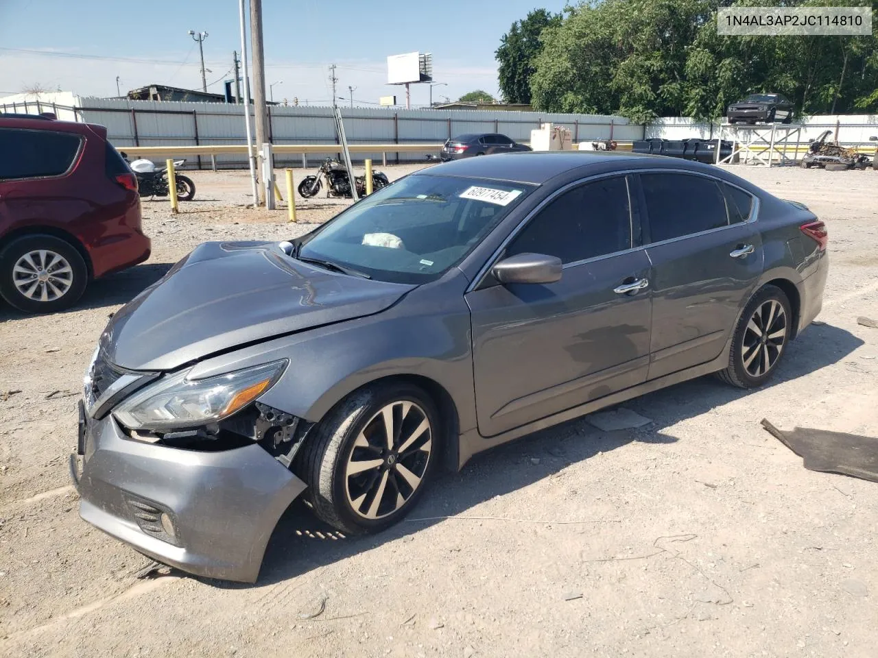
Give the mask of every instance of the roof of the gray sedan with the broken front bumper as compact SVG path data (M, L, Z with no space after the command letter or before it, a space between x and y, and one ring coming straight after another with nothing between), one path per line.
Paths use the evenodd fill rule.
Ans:
M574 171L582 175L591 175L657 166L687 171L709 171L712 175L716 175L718 171L699 162L664 155L619 151L531 151L445 162L421 169L413 175L449 175L540 185L558 175L572 174Z

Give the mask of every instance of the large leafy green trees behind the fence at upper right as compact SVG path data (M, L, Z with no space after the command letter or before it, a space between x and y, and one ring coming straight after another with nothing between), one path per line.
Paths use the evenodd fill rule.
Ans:
M843 1L878 8L878 0L831 0ZM531 103L544 111L620 113L637 122L718 118L754 92L781 93L804 114L878 107L878 36L721 36L718 4L731 3L594 0L568 9L541 32Z

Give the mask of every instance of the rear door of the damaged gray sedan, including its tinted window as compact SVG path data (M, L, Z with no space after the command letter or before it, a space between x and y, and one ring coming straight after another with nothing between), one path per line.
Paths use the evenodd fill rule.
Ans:
M649 378L716 358L763 268L756 199L715 178L638 176L652 263Z

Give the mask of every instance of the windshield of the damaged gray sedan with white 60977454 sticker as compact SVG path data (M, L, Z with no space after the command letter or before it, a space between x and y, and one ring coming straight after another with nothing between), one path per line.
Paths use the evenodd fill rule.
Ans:
M306 238L297 257L393 283L428 283L469 254L533 187L410 175Z

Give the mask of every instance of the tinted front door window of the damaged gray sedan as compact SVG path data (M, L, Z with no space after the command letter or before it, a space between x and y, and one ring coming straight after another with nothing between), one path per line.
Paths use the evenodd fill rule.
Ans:
M545 254L569 263L630 247L628 182L615 176L561 194L515 236L507 255Z

